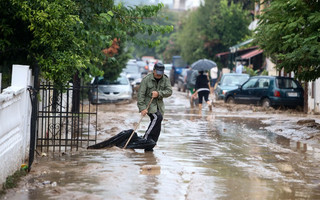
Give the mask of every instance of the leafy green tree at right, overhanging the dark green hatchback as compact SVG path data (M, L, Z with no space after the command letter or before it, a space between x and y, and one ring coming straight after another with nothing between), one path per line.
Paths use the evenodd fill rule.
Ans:
M320 77L320 4L313 0L271 1L260 16L255 41L278 70L305 81Z

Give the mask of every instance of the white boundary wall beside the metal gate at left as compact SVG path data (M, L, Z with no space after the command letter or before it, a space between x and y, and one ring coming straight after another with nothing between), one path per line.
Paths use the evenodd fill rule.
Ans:
M29 155L31 70L13 65L11 86L0 93L0 186Z

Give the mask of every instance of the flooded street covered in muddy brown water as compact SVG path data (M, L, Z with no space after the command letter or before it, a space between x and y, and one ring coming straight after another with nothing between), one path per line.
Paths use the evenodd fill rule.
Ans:
M39 157L3 198L320 199L319 144L270 132L261 123L267 116L190 109L186 93L175 91L165 102L153 152L113 147ZM101 107L100 139L133 128L140 117L135 102ZM144 118L138 135L148 123Z

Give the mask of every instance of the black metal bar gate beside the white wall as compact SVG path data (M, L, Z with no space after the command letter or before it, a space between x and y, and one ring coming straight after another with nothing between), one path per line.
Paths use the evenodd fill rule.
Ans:
M76 84L75 84L76 85ZM78 150L97 139L97 105L88 101L92 86L56 89L41 82L38 90L36 149L43 151Z

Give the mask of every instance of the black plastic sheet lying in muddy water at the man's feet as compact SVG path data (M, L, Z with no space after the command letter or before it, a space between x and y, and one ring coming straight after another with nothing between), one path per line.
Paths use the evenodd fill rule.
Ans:
M124 145L127 143L132 132L133 132L133 129L121 131L120 133L111 137L108 140L97 143L95 145L88 146L87 149L102 149L102 148L110 148L113 146L123 148ZM139 137L137 133L134 132L126 148L127 149L152 149L155 145L156 143L153 140L146 140L142 137Z

